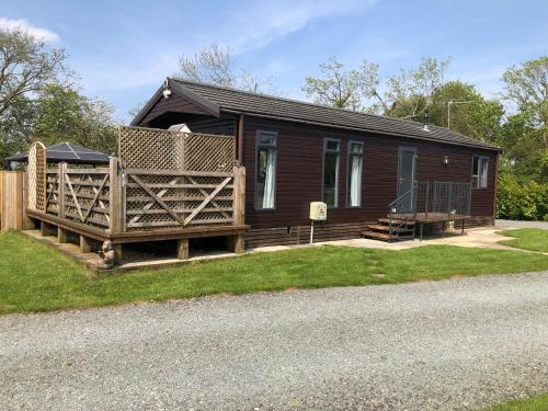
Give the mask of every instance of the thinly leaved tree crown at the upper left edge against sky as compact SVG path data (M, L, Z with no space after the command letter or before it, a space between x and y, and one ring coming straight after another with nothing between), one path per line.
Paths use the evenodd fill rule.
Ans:
M65 77L65 57L23 31L0 31L0 116L15 100Z

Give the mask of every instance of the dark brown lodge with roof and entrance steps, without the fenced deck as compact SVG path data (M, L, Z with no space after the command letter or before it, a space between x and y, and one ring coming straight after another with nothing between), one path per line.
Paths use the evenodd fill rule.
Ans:
M443 127L175 79L132 125L183 123L236 140L249 248L308 242L317 201L317 240L494 222L500 149Z

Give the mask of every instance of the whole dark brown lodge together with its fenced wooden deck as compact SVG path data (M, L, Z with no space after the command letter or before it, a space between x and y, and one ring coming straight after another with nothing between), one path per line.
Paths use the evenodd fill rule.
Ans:
M168 79L105 165L28 153L26 214L69 233L124 244L226 237L235 252L315 240L415 237L494 222L499 148L427 124Z

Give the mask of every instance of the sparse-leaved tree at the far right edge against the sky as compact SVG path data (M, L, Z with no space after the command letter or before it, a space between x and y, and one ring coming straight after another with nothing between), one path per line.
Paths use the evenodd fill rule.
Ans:
M505 99L532 114L548 150L548 56L513 66L502 76Z

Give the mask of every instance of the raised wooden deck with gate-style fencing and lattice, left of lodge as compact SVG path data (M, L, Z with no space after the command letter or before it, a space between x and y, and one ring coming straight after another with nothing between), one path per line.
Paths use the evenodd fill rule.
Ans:
M246 169L235 161L230 136L121 127L121 157L109 168L47 168L32 147L27 215L58 241L80 237L110 240L116 261L123 244L178 240L178 258L189 258L189 239L230 237L243 252Z

